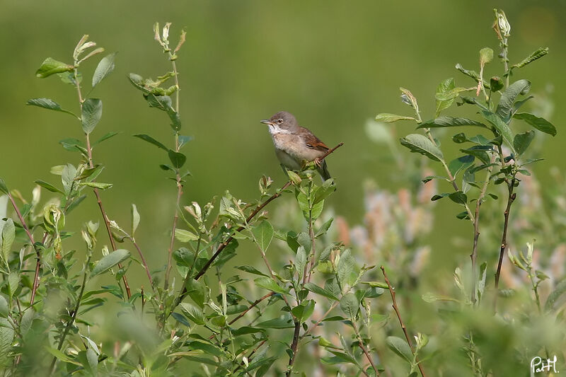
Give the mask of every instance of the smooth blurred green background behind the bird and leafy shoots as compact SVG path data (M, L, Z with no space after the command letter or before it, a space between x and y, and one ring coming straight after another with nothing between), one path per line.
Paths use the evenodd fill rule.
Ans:
M454 65L478 70L480 48L498 51L491 30L492 8L497 7L504 9L512 23L512 63L538 47L550 47L548 57L516 75L533 81L535 95L550 91L550 99L557 104L550 120L558 136L545 143L547 161L533 166L545 182L551 166L566 168L561 157L565 146L561 120L566 109L559 105L566 100L565 5L566 1L558 0L57 1L42 5L3 1L0 176L29 198L34 180L59 182L50 175L51 166L79 162L76 153L58 144L67 137L82 139L76 120L26 107L25 102L47 97L76 111L76 93L70 86L56 76L36 79L34 74L46 57L71 62L76 42L83 34L91 35L107 52L119 52L114 73L92 94L104 103L95 138L121 132L94 151L96 162L106 166L98 180L114 184L103 193L103 200L110 218L120 224L128 224L130 204L137 204L141 214L137 238L149 265L161 265L175 187L158 168L167 162L163 151L131 135L151 134L167 145L173 144L173 136L163 112L148 108L126 76L134 72L155 78L171 69L152 30L154 22L170 21L173 45L180 29L187 31L178 59L180 115L182 133L195 137L184 149L192 178L185 185L183 203L204 204L226 189L251 201L258 197L262 174L270 175L277 187L282 185L284 175L259 120L288 110L328 146L344 141L345 146L328 158L338 182L329 204L350 224L359 224L365 180L391 190L408 185L406 176L395 171L390 149L368 139L366 122L379 112L412 115L400 102L399 86L410 88L419 98L424 119L433 115L434 89L441 80L453 76L457 86L472 86ZM81 66L86 91L96 62L92 59ZM485 76L495 73L499 74L497 62L487 66ZM395 137L402 137L412 132L414 124L399 123L391 129ZM449 144L444 146L445 154L456 156L456 148ZM408 154L402 147L398 151ZM75 219L82 222L98 216L93 197L89 199ZM454 221L454 204L439 203L435 211L435 225L442 233L470 236L467 224ZM76 229L81 222L75 223ZM452 265L465 260L467 247L452 255L454 249L446 238L438 237L437 231L432 235L438 262Z

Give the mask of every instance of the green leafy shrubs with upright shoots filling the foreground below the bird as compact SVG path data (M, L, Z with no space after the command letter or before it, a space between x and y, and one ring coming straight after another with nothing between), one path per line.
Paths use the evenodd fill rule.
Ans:
M507 245L508 235L514 239L516 234L529 233L526 226L516 228L511 209L521 201L519 185L523 183L526 190L533 186L525 168L539 160L529 154L533 139L541 132L556 134L553 124L543 117L519 112L532 98L524 97L531 83L509 81L518 69L548 50L541 48L509 66L510 25L502 11L496 11L494 28L502 50L504 79L484 79L494 55L486 47L480 50L479 74L456 66L477 86L456 87L454 79L440 83L431 120L422 121L417 98L405 88L400 89L401 99L415 115L382 113L376 118L417 122L424 134L409 134L400 144L441 166L446 176L434 175L429 168L402 166L396 156L399 170L407 170L408 177L420 176L424 185L395 195L367 185L364 224L354 228L328 210L336 183L333 179L318 183L315 163L306 163L299 172L289 171L289 181L277 190L271 178L262 176L258 199L252 202L226 191L207 204L183 206L183 191L190 182L185 166L193 162L181 151L192 139L181 134L179 113L177 63L185 32L172 48L170 28L171 23L163 28L154 25L155 40L171 63L171 71L155 80L128 76L147 105L166 115L173 133L171 147L149 134L134 135L166 152L166 161L159 166L175 182L171 238L167 252L161 255L163 267L157 269L150 269L135 238L141 223L137 206L131 205L131 223L124 226L110 217L100 195L105 190L111 194L112 183L98 181L104 166L95 162L93 147L117 132L91 140L103 116L103 100L91 93L114 70L117 54L100 59L86 94L81 85L83 66L103 52L94 48L96 43L89 42L88 35L76 45L72 64L47 58L36 71L38 78L57 75L69 84L76 91L78 109L64 110L50 98L34 98L28 105L76 118L81 127L76 131L84 139L61 141L64 149L76 153L75 164L51 168L61 183L35 180L30 202L0 179L0 369L4 375L175 376L198 366L192 369L192 376L290 376L298 371L307 376L316 370L338 376L515 376L525 374L530 357L560 351L556 344L563 342L565 334L566 286L560 282L564 272L547 273L538 266L533 243L528 244L526 255L509 251ZM476 96L468 96L470 91ZM478 99L480 93L483 96ZM441 115L454 103L474 108L478 116ZM515 120L532 129L516 131ZM462 155L451 161L432 134L433 129L450 127L483 132L473 137L456 134L453 141ZM373 135L376 141L388 137L383 129L373 129ZM395 154L395 146L386 143ZM483 180L476 179L476 173ZM441 185L450 188L436 193ZM54 196L42 202L42 189ZM500 206L497 201L490 207L482 204L502 194L507 195L503 225L501 221L490 224ZM279 197L286 197L287 202L267 213L265 207ZM423 294L421 300L414 291L427 273L436 272L430 270L431 248L426 244L437 231L432 227L432 209L445 197L461 207L458 219L468 219L473 227L473 240L468 242L473 244L471 268L456 268L454 286L442 281L438 293ZM71 231L76 222L73 210L89 199L98 204L99 214L92 216L99 220L83 224L84 250L78 253L69 248L69 238L77 236ZM562 207L553 207L555 216L566 213ZM521 210L533 208L524 205ZM481 239L480 213L485 217L481 225L486 235ZM534 216L524 217L536 231ZM561 228L558 231L564 236ZM502 242L495 240L501 245L495 289L490 290L488 271L493 257L480 255L483 249L478 245L493 243L499 235ZM125 245L118 248L117 243ZM233 267L232 259L242 250L256 253L262 263ZM359 250L364 253L357 253ZM507 284L507 289L499 289L500 276L507 282L516 274L502 267L506 251L510 262L526 273L528 285L518 284L511 290ZM479 269L478 257L485 260ZM149 289L129 284L129 274L140 267ZM181 278L180 286L175 286L176 276ZM112 283L100 285L100 279ZM541 294L547 282L553 282L553 289ZM524 297L518 297L521 295ZM505 297L499 306L498 296ZM529 300L536 311L524 308ZM393 311L388 308L391 304ZM438 310L436 330L419 318L418 308L429 305ZM417 308L411 310L413 306ZM105 322L112 323L111 337L100 331ZM549 332L545 327L549 323L560 330L548 339L536 339L538 332ZM429 334L412 332L417 325L431 329ZM304 356L311 352L316 352L316 363Z

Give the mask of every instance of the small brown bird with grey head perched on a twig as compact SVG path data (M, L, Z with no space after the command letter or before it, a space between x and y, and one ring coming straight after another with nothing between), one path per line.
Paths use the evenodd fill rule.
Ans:
M290 112L280 111L260 122L269 126L275 154L282 166L290 170L301 170L306 163L314 161L323 181L330 179L326 161L319 160L330 148L311 131L299 126Z

